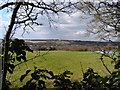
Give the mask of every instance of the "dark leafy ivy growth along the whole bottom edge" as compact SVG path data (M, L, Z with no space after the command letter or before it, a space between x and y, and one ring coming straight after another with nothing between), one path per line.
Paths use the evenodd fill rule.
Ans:
M26 74L22 75L20 81L27 76L30 70L26 71ZM48 73L46 75L44 73ZM71 81L70 76L73 73L65 71L60 75L54 75L52 71L42 70L35 68L34 72L31 73L31 79L27 81L26 85L20 88L20 90L39 90L47 89L46 82L43 79L53 79L54 88L60 90L69 89L81 89L81 90L118 90L120 89L120 71L115 71L111 75L102 77L98 73L94 72L93 69L89 68L83 73L83 80L80 82ZM34 81L34 82L33 82Z

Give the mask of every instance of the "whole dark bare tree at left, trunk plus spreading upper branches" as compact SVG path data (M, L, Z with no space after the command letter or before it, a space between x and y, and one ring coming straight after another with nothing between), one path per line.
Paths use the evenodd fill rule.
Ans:
M50 19L50 14L58 14L59 12L71 13L72 9L77 3L60 2L59 0L53 0L52 2L44 2L43 0L9 0L0 5L0 10L8 9L12 12L9 27L4 37L4 49L3 49L3 85L6 83L6 74L8 70L10 39L14 35L15 31L19 28L23 29L23 33L27 29L33 29L34 25L42 25L37 22L39 15L46 14ZM4 87L4 86L3 86Z

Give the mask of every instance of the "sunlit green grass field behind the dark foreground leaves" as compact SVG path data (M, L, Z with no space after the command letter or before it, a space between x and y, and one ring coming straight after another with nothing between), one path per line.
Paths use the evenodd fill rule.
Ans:
M27 53L27 57L31 58L35 56L37 52ZM41 52L45 54L46 52ZM72 80L82 79L82 69L80 62L82 64L83 70L86 71L87 68L93 68L100 75L105 76L109 73L103 67L100 61L100 54L92 52L76 52L76 51L50 51L49 53L36 58L35 60L28 61L16 67L12 75L8 74L8 79L12 82L12 87L18 87L25 83L21 83L19 78L28 69L34 69L34 66L52 70L55 74L64 72L65 70L70 70L74 74L71 76ZM105 63L110 70L113 70L111 61L106 58ZM29 77L28 77L29 78ZM26 80L28 79L26 78Z

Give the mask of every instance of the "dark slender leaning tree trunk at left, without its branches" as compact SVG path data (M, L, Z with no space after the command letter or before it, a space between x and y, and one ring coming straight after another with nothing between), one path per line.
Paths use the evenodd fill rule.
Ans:
M13 10L13 14L11 17L11 22L9 25L9 28L7 30L6 36L4 38L4 56L3 56L3 66L2 66L2 71L3 71L3 77L2 77L2 89L4 90L6 88L6 75L7 75L7 69L8 69L8 52L9 52L9 44L10 44L10 35L13 29L13 26L15 24L15 18L18 12L18 9L20 7L21 3L16 3L16 6Z

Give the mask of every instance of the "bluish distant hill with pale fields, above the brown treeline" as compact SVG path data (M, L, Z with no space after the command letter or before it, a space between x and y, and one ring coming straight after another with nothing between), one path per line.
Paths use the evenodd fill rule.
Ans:
M119 42L99 42L80 40L25 40L28 45L37 46L117 46Z

